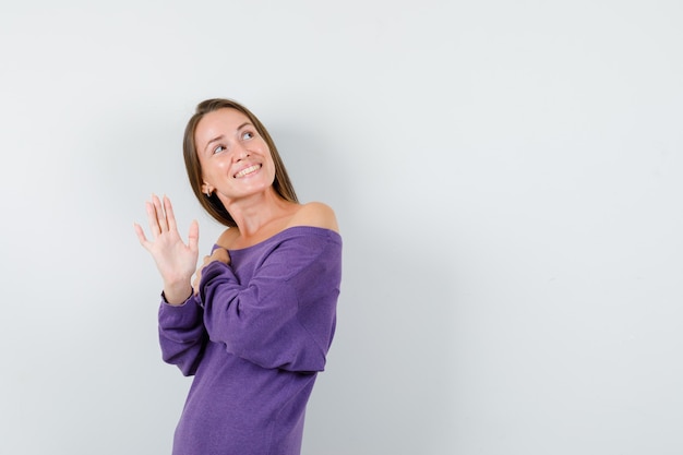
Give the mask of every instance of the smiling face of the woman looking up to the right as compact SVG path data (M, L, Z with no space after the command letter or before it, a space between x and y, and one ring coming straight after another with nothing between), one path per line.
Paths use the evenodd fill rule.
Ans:
M202 192L216 192L225 203L273 185L271 151L239 110L224 108L206 113L196 125L194 143L202 165Z

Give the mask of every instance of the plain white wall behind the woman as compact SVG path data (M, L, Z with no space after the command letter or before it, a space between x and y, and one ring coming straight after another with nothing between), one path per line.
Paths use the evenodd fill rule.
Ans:
M53 5L52 5L53 4ZM338 216L304 455L683 453L683 3L0 7L1 454L168 454L133 223L208 97Z

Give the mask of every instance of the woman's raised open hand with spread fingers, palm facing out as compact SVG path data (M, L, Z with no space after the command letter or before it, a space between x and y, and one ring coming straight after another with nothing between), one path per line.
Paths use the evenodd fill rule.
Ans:
M145 203L152 240L147 240L142 227L134 225L140 244L147 250L164 280L164 295L171 304L180 304L192 294L192 275L199 258L200 228L196 220L190 225L188 243L178 234L173 207L170 200L152 195Z

